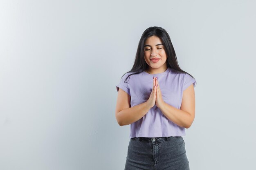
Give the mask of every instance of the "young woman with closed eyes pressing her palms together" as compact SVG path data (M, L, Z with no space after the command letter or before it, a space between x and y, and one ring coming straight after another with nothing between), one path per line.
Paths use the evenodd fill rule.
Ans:
M117 122L130 125L125 170L189 170L182 136L195 118L195 84L168 33L146 29L131 71L116 86Z

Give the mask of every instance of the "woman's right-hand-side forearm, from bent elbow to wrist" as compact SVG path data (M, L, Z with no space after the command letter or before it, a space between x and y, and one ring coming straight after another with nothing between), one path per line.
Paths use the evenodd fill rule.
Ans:
M193 122L193 117L188 112L175 108L166 102L164 102L163 106L159 107L159 109L167 119L180 127L189 128Z

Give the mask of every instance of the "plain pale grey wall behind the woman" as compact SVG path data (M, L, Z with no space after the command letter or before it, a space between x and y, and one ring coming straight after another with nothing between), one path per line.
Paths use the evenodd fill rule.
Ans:
M116 85L149 26L197 80L191 170L254 167L255 0L0 1L0 169L122 170Z

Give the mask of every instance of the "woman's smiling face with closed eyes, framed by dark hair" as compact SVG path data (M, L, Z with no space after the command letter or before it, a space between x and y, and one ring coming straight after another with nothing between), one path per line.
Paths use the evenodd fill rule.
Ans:
M146 40L146 44L144 46L144 58L149 66L149 70L167 67L167 57L164 45L160 38L153 35Z

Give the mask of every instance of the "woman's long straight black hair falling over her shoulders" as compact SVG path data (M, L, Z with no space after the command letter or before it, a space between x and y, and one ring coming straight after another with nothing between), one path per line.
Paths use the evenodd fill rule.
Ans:
M144 33L142 33L141 38L139 40L134 64L132 66L132 69L127 72L127 73L130 73L130 72L135 72L135 73L128 75L128 77L130 77L131 75L134 75L134 74L139 74L139 73L145 71L146 68L148 68L148 64L146 63L146 61L144 59L144 45L146 43L146 40L153 35L157 36L158 38L160 38L162 40L162 44L164 45L164 50L165 50L166 56L167 56L167 60L166 60L167 67L172 68L172 70L177 73L187 73L186 71L183 71L180 68L180 66L177 62L177 57L176 57L176 54L175 54L175 51L173 48L173 44L171 42L171 38L168 35L168 33L165 31L165 29L163 29L162 27L158 27L158 26L150 26L148 29L146 29L144 31ZM126 73L124 73L124 75L125 74ZM189 74L189 73L187 73L187 74ZM193 77L192 75L190 75L190 76ZM126 79L128 77L126 77ZM126 81L126 79L124 81Z

